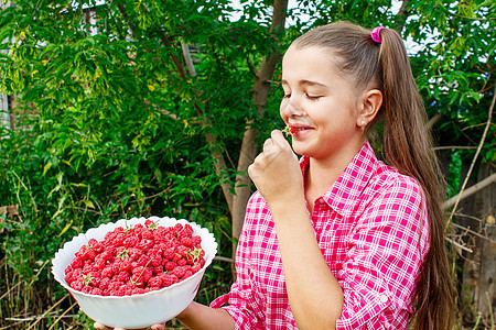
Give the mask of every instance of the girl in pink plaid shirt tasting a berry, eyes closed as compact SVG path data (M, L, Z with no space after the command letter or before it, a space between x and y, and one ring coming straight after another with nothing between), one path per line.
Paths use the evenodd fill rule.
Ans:
M280 114L302 157L272 132L248 169L258 191L236 283L177 318L202 330L356 330L407 329L414 316L416 329L450 329L444 196L399 34L317 28L287 51L281 84ZM388 165L367 141L381 119Z

